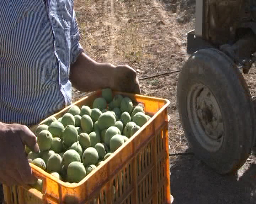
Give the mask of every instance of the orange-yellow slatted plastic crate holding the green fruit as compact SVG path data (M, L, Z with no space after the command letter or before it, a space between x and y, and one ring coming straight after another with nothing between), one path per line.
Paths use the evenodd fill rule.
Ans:
M31 186L10 188L4 185L6 204L172 203L167 115L169 100L123 92L113 94L128 96L134 103L143 104L145 113L153 117L76 185L60 181L30 164L34 175L43 180L43 193ZM92 106L94 99L100 96L101 91L96 91L74 104L80 108L82 105ZM62 117L71 106L52 116L57 119Z

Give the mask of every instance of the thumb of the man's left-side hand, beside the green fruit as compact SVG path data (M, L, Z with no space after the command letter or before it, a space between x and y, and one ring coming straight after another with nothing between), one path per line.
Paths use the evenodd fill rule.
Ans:
M20 136L22 142L25 143L32 152L39 153L37 137L27 126L23 126L23 131L21 131Z

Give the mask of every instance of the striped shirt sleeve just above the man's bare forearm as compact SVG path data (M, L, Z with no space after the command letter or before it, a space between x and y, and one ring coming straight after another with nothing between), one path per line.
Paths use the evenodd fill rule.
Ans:
M71 30L70 30L70 64L75 63L79 55L84 52L84 49L82 48L80 42L80 35L79 35L79 29L78 24L76 22L76 15L75 11L73 10L73 17L71 21Z

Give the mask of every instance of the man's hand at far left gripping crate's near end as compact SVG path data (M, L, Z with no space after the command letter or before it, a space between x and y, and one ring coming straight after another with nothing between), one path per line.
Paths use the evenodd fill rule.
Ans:
M34 183L25 145L39 152L36 136L27 126L0 123L0 183L9 186Z

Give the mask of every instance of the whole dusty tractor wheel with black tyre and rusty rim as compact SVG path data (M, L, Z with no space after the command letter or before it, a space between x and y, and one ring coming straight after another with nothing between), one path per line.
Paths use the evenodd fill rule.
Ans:
M182 68L177 106L197 158L219 174L237 171L254 141L254 106L236 65L217 49L202 49Z

